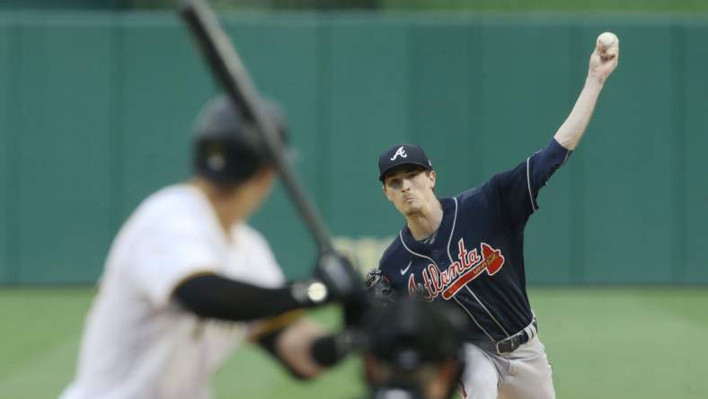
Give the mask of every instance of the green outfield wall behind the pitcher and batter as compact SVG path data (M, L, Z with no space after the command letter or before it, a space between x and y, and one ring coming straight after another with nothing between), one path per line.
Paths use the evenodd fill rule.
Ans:
M620 65L527 226L533 283L708 283L708 20L548 15L226 15L288 112L332 234L375 266L403 226L376 159L419 143L454 195L553 136L597 34ZM216 88L170 14L0 13L0 282L95 281L151 191L189 175ZM253 223L291 276L314 244L280 188Z

